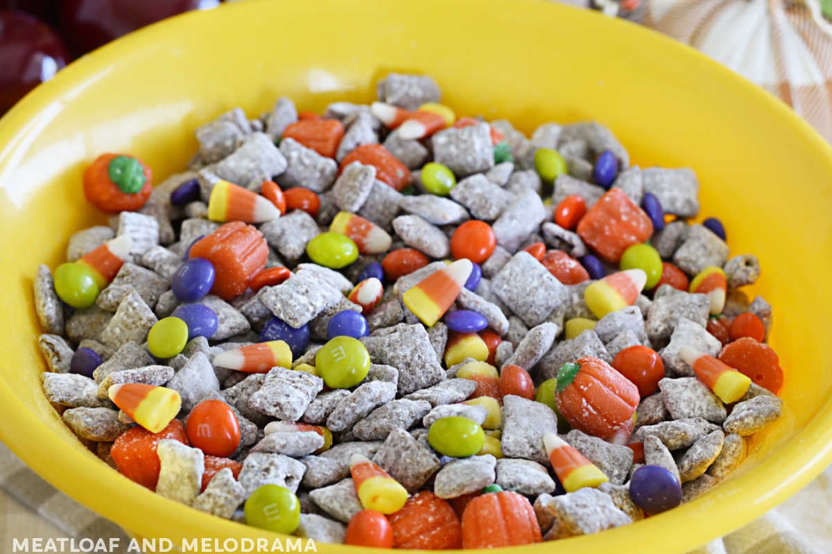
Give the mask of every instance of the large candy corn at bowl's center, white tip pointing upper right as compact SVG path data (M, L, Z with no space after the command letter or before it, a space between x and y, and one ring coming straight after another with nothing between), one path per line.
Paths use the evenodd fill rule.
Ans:
M472 271L471 260L457 260L431 273L418 285L408 289L402 295L402 301L426 326L432 327L457 299ZM488 358L488 354L485 358Z

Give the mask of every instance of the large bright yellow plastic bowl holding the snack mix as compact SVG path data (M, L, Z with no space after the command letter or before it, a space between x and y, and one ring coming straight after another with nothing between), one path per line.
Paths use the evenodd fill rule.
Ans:
M756 292L775 306L772 344L786 373L783 418L714 492L557 547L685 552L774 507L830 463L832 150L780 101L696 51L532 0L239 2L136 32L17 105L0 122L3 442L138 535L177 545L277 537L160 498L74 439L41 392L32 277L38 263L62 262L73 231L103 221L81 191L82 169L97 154L138 154L158 181L186 164L196 126L223 110L259 115L281 95L303 110L370 101L388 71L430 74L459 115L509 118L526 132L552 120L602 121L634 163L696 169L703 217L726 223L733 253L760 257Z

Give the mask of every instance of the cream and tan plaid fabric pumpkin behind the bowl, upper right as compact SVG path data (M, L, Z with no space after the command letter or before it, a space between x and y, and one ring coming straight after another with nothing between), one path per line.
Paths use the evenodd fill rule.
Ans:
M832 142L832 24L823 9L827 3L649 0L644 23L765 87Z

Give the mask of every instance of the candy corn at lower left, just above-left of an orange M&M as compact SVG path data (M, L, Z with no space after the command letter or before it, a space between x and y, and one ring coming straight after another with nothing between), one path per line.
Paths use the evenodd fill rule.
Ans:
M112 385L107 395L121 411L151 433L165 429L182 407L181 396L176 390L154 385Z

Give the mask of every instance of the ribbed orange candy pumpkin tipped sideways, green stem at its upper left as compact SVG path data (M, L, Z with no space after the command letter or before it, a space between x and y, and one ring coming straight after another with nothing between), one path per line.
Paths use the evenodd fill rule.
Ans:
M638 387L604 360L585 356L557 372L557 411L586 434L626 439L632 433L638 401Z

